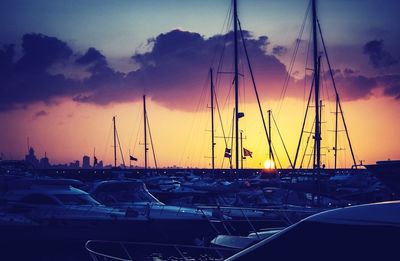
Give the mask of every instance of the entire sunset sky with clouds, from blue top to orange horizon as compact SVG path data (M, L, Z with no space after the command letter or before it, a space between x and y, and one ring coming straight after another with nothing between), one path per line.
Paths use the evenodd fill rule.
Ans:
M278 166L293 161L311 86L308 0L238 1L239 19L265 118L272 110ZM209 68L216 85L216 167L229 167L233 113L230 0L3 0L0 3L0 152L22 159L29 145L51 163L113 161L112 117L125 161L143 166L142 96L158 166L210 167ZM357 162L400 158L398 1L318 1L318 19ZM321 39L319 40L321 45ZM291 66L298 46L296 59ZM240 53L245 167L262 167L268 146L244 50ZM320 50L322 162L333 166L334 92ZM220 64L220 66L219 66ZM287 85L285 82L287 81ZM310 167L307 117L297 165ZM220 115L220 116L219 116ZM276 127L277 126L277 127ZM338 126L339 166L352 165ZM225 135L224 135L225 134ZM307 138L309 139L307 145ZM150 147L150 145L149 145ZM154 159L150 150L150 165ZM279 161L279 162L278 162ZM122 158L118 156L118 162ZM128 164L128 163L127 163Z

